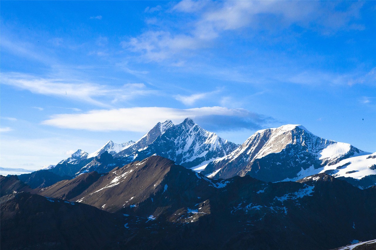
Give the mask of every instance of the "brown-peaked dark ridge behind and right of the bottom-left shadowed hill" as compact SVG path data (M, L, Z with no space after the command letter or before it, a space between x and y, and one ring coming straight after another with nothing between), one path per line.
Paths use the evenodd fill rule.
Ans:
M325 173L298 182L209 179L152 156L39 194L129 215L130 234L119 241L128 248L316 250L376 238L376 188Z

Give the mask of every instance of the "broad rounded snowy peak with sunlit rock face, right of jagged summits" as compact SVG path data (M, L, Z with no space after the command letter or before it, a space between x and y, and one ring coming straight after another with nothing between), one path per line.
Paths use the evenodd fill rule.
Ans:
M367 153L347 143L322 139L300 125L284 125L256 132L227 157L209 163L202 173L212 178L250 175L275 182L360 154Z

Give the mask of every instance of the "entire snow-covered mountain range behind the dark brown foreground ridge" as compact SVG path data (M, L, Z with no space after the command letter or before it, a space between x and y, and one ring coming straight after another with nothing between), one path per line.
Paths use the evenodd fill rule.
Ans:
M47 167L56 175L49 175L47 182L52 185L53 179L57 182L61 177L69 179L67 176L74 178L92 171L105 173L154 154L209 178L250 175L267 182L296 181L325 172L360 188L376 184L376 158L371 153L315 136L301 125L259 130L237 145L204 130L189 118L177 125L171 120L158 122L136 142L116 144L110 140L91 154L79 149L56 166ZM20 179L33 188L47 187L47 177L40 173L40 183L32 184L28 179L33 174L20 175Z

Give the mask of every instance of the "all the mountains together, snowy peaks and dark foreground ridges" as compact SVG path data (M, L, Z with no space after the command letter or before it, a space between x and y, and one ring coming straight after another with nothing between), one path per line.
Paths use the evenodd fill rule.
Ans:
M79 149L0 185L6 249L309 250L376 239L376 153L301 125L237 145L192 119L166 120L136 142Z

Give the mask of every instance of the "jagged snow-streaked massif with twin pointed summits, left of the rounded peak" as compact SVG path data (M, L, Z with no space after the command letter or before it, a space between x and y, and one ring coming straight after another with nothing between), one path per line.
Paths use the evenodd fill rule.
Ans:
M115 158L122 158L123 165L157 154L182 166L197 168L230 154L237 146L215 133L204 130L192 119L187 118L178 125L174 125L171 120L166 120L163 123L158 122L152 130L136 142L115 144L109 141L92 154L78 150L70 158L61 161L53 171L60 175L67 174L70 171L66 169L71 169L71 164L76 164L77 166L73 167L77 169L74 176L94 170L106 172L108 170L106 166L97 162L97 157L104 152L108 152ZM109 167L113 166L120 165ZM105 167L105 169L100 170L100 167Z

